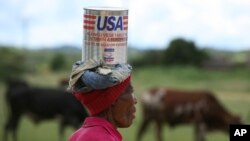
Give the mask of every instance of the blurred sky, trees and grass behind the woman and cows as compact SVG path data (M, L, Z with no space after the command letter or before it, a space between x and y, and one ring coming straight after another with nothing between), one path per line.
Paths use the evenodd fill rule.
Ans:
M228 111L249 123L249 0L1 0L0 140L9 113L6 80L65 89L62 80L68 80L72 64L81 59L83 7L103 5L129 8L128 62L134 69L138 104L132 127L119 129L124 141L136 140L142 119L140 96L152 87L210 90ZM34 124L25 115L18 139L56 141L58 126L57 118ZM64 140L73 131L67 128ZM152 124L143 141L155 137ZM222 132L206 138L229 140ZM164 140L184 139L194 140L192 125L164 126Z

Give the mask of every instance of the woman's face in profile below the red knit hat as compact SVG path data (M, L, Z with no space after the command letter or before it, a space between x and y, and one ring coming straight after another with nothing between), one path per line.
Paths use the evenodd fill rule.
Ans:
M117 101L112 105L112 114L115 125L120 128L129 127L135 118L136 98L133 95L131 84L120 95Z

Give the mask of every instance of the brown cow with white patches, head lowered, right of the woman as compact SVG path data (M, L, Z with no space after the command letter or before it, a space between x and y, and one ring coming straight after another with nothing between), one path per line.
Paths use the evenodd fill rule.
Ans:
M209 91L180 91L153 88L142 95L143 119L137 141L141 140L150 122L156 122L157 141L161 136L163 122L174 127L193 124L195 141L205 141L206 131L225 131L229 124L240 124L238 116L230 114Z

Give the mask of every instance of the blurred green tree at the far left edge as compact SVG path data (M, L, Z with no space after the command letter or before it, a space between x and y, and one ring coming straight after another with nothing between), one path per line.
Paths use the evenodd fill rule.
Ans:
M20 49L0 46L0 80L19 78L27 72L27 57Z

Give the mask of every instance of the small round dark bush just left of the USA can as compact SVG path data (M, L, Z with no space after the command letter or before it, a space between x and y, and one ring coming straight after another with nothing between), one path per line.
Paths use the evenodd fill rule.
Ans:
M64 54L57 53L51 60L50 68L52 71L61 71L67 66L67 59Z

